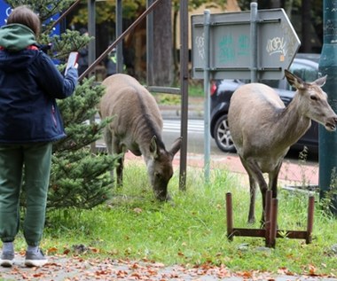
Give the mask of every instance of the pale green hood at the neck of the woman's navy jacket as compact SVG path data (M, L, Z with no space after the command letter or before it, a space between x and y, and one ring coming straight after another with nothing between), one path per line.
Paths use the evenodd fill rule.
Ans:
M0 28L0 46L8 51L21 51L35 43L35 34L29 27L15 23Z

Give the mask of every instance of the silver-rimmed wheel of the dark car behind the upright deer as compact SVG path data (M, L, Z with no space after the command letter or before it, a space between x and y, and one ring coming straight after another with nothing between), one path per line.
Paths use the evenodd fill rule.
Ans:
M216 121L214 137L216 140L216 145L223 152L236 152L233 141L231 140L231 132L230 128L228 127L227 114L220 116L220 118Z

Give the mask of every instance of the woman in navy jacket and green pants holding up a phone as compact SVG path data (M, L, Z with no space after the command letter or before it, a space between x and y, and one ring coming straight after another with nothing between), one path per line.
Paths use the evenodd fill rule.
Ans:
M39 245L43 236L51 171L52 142L65 137L55 98L74 92L75 67L66 77L36 45L39 17L27 6L12 10L0 28L0 265L14 261L19 231L20 189L24 179L27 210L23 234L25 264L43 266L47 258Z

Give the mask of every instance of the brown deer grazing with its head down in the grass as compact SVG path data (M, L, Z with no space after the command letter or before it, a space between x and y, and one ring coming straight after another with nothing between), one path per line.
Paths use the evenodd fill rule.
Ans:
M172 160L180 149L181 137L176 139L169 152L165 149L160 109L153 96L135 78L114 74L102 84L106 93L99 103L100 117L114 116L105 129L107 151L125 153L129 150L137 156L143 155L156 198L168 200ZM118 186L122 185L123 162L124 155L116 168Z

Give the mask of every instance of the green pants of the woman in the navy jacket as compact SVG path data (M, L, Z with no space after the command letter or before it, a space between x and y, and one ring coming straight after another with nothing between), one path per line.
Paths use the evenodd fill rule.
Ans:
M0 238L11 242L20 227L20 191L24 176L27 210L23 234L27 245L43 236L51 174L51 143L0 144Z

